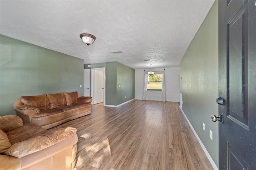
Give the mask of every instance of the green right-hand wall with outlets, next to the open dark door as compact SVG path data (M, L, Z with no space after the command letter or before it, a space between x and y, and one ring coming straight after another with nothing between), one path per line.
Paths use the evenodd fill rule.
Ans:
M180 77L182 110L218 166L218 123L210 119L211 115L218 115L218 1L180 61ZM210 130L213 140L209 138Z

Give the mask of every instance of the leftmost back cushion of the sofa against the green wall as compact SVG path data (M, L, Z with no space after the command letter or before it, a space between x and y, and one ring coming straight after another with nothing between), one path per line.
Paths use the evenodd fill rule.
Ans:
M38 96L22 96L20 97L20 101L24 103L24 105L38 107L39 109L50 108L50 101L46 94Z

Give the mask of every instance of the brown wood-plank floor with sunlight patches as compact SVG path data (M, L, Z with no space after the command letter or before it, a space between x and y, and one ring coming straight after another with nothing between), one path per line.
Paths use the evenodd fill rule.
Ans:
M177 102L93 105L59 127L77 128L75 170L213 170Z

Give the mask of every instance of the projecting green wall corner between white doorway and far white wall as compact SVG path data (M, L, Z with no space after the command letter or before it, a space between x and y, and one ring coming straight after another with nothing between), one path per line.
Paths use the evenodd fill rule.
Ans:
M134 99L134 69L127 67L126 65L123 65L116 61L108 63L95 63L91 64L91 66L92 69L103 67L105 68L105 105L117 106L126 101Z

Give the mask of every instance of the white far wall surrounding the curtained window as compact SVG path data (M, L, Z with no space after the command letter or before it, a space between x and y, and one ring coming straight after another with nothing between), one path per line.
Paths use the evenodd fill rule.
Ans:
M152 71L164 70L164 68L152 69ZM180 67L165 68L166 100L180 101ZM150 71L146 69L145 71ZM144 69L135 70L135 99L141 100L143 93ZM147 91L146 100L162 101L162 91Z

